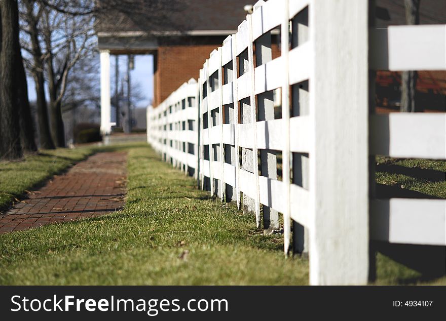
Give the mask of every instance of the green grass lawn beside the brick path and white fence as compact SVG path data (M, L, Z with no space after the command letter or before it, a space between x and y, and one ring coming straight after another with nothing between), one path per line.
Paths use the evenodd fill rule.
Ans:
M107 150L116 148L128 150L125 209L0 235L0 284L308 284L308 260L285 259L282 235L263 235L252 215L210 199L152 149L140 144ZM94 151L64 150L63 161L71 164L71 157L82 159ZM48 168L46 173L51 175ZM0 172L0 190L3 184ZM21 185L13 195L27 188ZM420 283L418 272L383 255L377 266L378 284ZM430 283L446 284L445 278Z

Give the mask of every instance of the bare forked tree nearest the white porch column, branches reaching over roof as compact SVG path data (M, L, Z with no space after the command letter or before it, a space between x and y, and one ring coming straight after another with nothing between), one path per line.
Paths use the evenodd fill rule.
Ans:
M63 98L67 92L69 74L73 66L95 46L91 41L96 27L94 18L100 17L97 21L102 24L110 21L112 30L116 31L142 25L145 28L150 25L150 29L154 31L164 29L166 25L179 29L176 21L169 18L172 11L181 7L179 0L23 1L42 8L39 16L36 16L41 52L36 52L34 56L41 57L43 62L35 69L38 72L44 69L50 100L50 128L53 141L58 147L65 146L62 109L65 108L63 104L66 101ZM45 92L40 96L43 95ZM79 105L76 101L81 100L82 98L71 97L70 106L66 108L75 108L74 106Z

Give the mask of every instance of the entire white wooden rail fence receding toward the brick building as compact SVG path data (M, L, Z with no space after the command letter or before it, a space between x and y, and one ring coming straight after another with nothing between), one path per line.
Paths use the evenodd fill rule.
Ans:
M263 213L278 229L283 215L285 252L297 222L313 285L365 284L370 238L446 245L445 200L378 200L369 187L375 154L446 159L445 113L369 112L373 70L446 70L446 26L369 31L367 15L367 0L259 1L198 84L148 109L148 142L165 160L257 225Z

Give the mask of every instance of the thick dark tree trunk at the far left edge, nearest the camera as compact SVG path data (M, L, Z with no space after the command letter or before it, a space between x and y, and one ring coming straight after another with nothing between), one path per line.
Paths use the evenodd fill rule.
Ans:
M0 1L0 158L23 155L20 144L18 85L14 78L18 64L19 19L16 0ZM20 61L22 63L22 61Z

